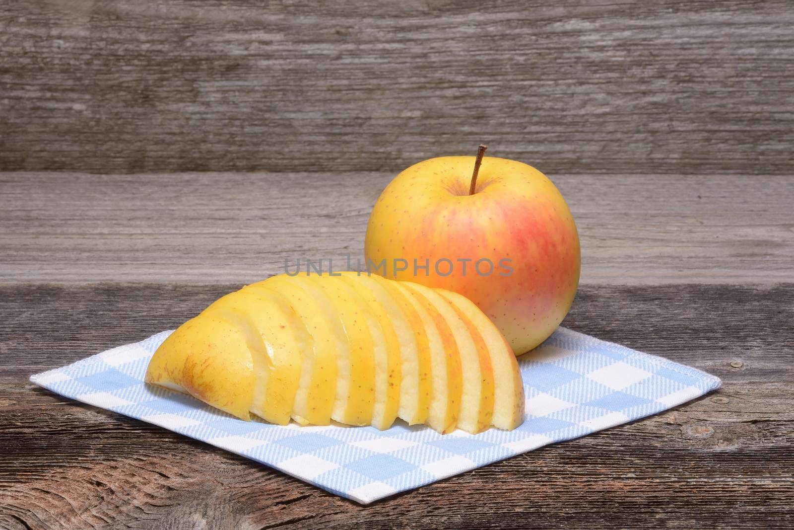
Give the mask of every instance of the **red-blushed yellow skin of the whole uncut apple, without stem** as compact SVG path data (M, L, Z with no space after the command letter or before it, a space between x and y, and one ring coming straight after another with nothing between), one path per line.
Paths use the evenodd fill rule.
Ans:
M530 165L484 157L468 195L474 160L432 158L396 176L372 209L364 254L375 265L386 260L387 278L466 296L519 355L547 339L568 313L579 284L579 236L565 199ZM407 270L395 271L395 259L406 260ZM414 275L414 259L429 261L427 273ZM442 276L445 262L441 274L434 267L442 259L453 263L449 276ZM476 273L482 259L493 264L490 275ZM480 272L488 269L482 261Z

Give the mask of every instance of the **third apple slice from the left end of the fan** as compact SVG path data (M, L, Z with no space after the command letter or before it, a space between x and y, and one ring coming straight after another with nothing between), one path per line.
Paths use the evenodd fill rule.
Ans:
M271 277L245 289L278 293L303 323L310 339L307 341L309 347L303 350L305 356L292 419L303 425L328 425L337 388L337 339L326 319L326 311L314 296L314 284L306 283L305 278L290 278L289 281L286 278L284 275Z

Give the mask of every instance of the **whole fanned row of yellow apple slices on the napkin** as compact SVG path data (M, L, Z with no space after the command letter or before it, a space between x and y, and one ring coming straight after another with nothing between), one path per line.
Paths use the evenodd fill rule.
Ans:
M242 420L448 433L515 428L515 355L472 302L383 277L279 275L210 304L166 339L146 381Z

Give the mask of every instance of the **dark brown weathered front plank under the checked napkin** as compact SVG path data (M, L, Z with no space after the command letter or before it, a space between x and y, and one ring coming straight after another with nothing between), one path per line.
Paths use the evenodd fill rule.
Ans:
M794 524L794 284L582 288L565 325L707 369L723 389L366 507L26 381L236 287L0 287L0 528Z

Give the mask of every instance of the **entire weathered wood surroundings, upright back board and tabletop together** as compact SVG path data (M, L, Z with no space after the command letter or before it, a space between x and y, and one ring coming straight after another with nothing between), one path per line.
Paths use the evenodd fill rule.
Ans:
M794 527L792 25L786 0L0 2L0 528ZM391 176L482 141L569 200L565 325L719 392L362 507L29 384L360 255Z

